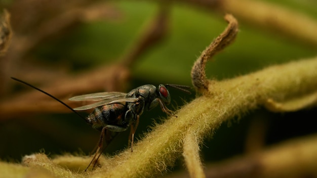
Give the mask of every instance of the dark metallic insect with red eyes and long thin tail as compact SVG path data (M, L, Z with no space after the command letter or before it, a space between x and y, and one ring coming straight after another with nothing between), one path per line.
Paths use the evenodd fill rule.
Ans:
M107 146L119 132L127 130L130 125L129 145L131 145L131 152L133 152L134 133L138 126L140 115L143 113L144 109L151 110L157 105L160 105L163 112L177 117L166 107L166 105L169 105L171 102L171 96L167 87L173 87L190 94L188 91L190 87L186 85L160 84L156 87L151 84L146 84L131 90L127 94L121 92L103 92L72 97L69 100L96 101L96 103L72 109L70 106L45 91L20 79L14 77L11 78L50 96L82 118L84 117L76 111L94 109L94 111L84 119L93 128L100 130L101 133L96 153L85 171L92 163L93 168L95 167L103 151L103 142L105 141Z

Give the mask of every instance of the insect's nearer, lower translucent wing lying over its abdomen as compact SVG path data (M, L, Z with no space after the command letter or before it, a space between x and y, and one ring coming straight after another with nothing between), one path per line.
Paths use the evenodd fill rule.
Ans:
M113 104L113 103L122 103L125 104L126 102L132 102L135 103L138 101L138 98L116 98L116 99L105 99L102 100L100 102L97 103L93 103L90 105L85 105L85 106L81 106L81 107L77 107L74 108L74 110L76 111L80 111L80 110L87 110L87 109L92 109L92 108L96 108L98 106L102 106L102 105L106 105L106 104Z

